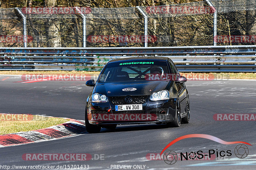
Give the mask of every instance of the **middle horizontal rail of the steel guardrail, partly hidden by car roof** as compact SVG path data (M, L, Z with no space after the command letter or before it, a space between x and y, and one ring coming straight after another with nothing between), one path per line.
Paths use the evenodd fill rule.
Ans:
M0 62L17 63L90 63L105 64L113 59L127 58L131 56L97 56L97 57L77 57L77 56L4 56ZM140 57L140 56L132 56ZM181 55L162 56L170 57L175 64L254 64L256 55Z

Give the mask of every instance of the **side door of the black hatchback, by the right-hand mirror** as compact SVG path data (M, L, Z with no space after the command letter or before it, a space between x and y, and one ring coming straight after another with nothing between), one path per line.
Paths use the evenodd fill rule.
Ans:
M180 75L178 69L175 67L174 63L172 60L169 60L170 67L172 69L172 72L175 74L175 78ZM179 98L180 98L180 107L181 107L181 115L186 113L186 88L185 88L185 83L179 83L175 82L177 89L179 91Z

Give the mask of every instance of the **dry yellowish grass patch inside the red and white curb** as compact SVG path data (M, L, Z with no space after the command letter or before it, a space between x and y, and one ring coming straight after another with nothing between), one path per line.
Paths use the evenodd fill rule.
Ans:
M69 119L62 119L62 118L54 118L54 117L40 117L31 115L28 120L26 119L20 119L20 120L6 120L7 115L2 116L3 114L0 114L0 135L3 134L9 134L9 133L16 133L21 131L32 131L32 130L38 130L47 128L50 126L62 124L65 122L68 122ZM13 115L13 114L10 114ZM22 116L27 116L23 115ZM22 117L21 116L21 117ZM33 119L32 119L33 118Z

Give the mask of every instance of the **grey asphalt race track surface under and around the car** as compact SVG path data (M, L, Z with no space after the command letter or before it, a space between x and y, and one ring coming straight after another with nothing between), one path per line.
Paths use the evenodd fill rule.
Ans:
M84 120L84 108L91 87L83 81L42 81L21 83L20 76L0 76L0 113L40 114ZM102 129L99 134L84 134L48 142L0 148L1 165L89 165L89 169L111 169L111 165L144 165L145 169L255 169L255 121L215 121L214 114L256 112L256 81L188 81L191 118L179 128L140 124ZM249 155L234 155L237 144L223 145L205 138L187 138L167 150L177 153L202 150L207 153L231 150L232 155L215 160L178 160L167 165L163 160L148 160L147 153L160 153L172 140L188 134L208 134L224 141L244 141ZM104 160L25 161L24 153L104 154ZM143 166L142 166L143 167ZM74 169L74 168L73 168ZM113 167L112 167L113 169ZM133 168L132 168L133 169Z

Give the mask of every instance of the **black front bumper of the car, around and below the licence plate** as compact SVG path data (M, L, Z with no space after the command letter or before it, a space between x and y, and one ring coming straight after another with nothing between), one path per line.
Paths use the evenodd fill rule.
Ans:
M115 111L115 104L87 103L87 116L90 124L165 124L172 122L176 114L176 98L150 101L142 104L142 110Z

